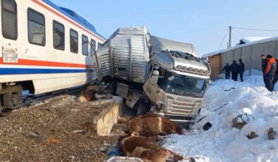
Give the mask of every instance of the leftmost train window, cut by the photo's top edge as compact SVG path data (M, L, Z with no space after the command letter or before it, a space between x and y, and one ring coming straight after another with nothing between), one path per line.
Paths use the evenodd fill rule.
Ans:
M8 39L18 39L18 15L15 0L2 0L2 35Z

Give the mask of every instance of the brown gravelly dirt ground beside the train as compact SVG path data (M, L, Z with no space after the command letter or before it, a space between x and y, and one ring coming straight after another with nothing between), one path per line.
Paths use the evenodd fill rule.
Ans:
M93 118L112 104L102 101L78 103L72 96L53 99L13 111L0 118L1 161L103 161L99 148L114 144L114 136L98 137Z

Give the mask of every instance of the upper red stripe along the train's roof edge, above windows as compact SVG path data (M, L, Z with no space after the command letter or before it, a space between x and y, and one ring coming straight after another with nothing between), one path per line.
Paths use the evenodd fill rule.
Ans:
M75 23L73 20L71 20L71 19L67 18L66 16L62 15L61 13L55 11L53 8L50 8L49 6L47 6L45 4L42 4L42 2L40 0L32 0L32 1L34 1L36 4L42 6L43 8L46 8L48 11L58 15L60 18L63 18L64 20L67 20L69 23L72 23L76 27L79 27L80 29L84 30L85 32L89 32L91 35L97 37L98 39L101 39L104 42L104 39L102 39L101 37L95 35L95 33L90 32L90 30L85 29L81 25L78 25L78 23Z

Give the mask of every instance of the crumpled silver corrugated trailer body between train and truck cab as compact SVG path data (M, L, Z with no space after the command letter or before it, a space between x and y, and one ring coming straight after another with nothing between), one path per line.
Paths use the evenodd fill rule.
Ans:
M116 77L130 82L144 83L149 61L145 27L119 28L97 51L100 78Z

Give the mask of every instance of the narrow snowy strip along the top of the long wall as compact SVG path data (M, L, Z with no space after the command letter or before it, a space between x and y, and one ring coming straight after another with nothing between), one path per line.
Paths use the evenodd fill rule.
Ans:
M253 40L255 40L255 39L253 39ZM226 51L231 51L231 50L238 49L238 48L241 48L241 47L244 47L244 46L250 46L250 45L253 45L253 44L270 42L270 41L274 41L274 40L278 40L278 37L268 37L266 39L260 39L260 40L254 41L254 42L250 42L250 43L246 43L246 44L240 44L240 45L237 45L237 46L233 46L233 47L231 47L229 49L222 49L222 50L212 51L210 53L204 54L203 57L206 58L206 57L210 57L210 56L215 56L217 54L222 54L222 53L224 53Z

